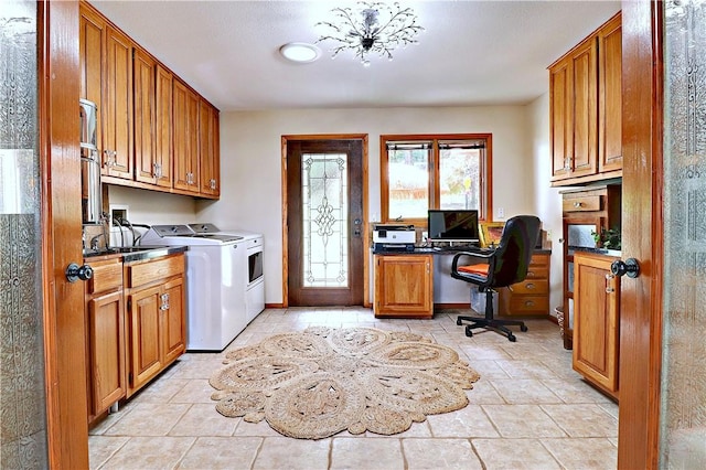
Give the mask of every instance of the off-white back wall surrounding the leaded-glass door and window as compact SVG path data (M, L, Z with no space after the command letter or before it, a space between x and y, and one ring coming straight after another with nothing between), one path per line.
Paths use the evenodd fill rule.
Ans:
M265 301L282 302L281 136L368 135L368 221L379 218L382 133L491 132L493 206L505 217L535 210L535 156L526 106L297 109L221 115L221 200L196 203L197 218L265 235ZM548 109L545 110L548 115ZM545 185L545 188L548 184ZM495 217L498 218L498 217Z

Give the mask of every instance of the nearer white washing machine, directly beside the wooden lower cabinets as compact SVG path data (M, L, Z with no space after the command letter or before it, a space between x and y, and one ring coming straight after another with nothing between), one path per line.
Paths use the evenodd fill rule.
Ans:
M196 234L188 225L152 225L141 245L185 245L186 350L223 351L247 323L245 238Z

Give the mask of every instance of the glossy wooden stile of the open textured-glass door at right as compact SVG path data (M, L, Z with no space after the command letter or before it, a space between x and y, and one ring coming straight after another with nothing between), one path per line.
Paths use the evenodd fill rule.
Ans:
M637 258L641 273L621 286L620 469L656 469L660 456L663 7L622 1L622 257Z

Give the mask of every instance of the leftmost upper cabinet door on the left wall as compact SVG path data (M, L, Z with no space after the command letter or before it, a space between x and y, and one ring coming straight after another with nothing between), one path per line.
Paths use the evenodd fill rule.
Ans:
M106 23L93 10L79 3L81 31L81 97L96 104L96 147L103 149L103 57L105 56Z

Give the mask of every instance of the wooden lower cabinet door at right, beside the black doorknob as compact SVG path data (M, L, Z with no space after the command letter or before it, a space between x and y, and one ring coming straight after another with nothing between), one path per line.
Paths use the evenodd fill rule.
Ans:
M616 257L574 255L574 370L618 399L620 278Z

